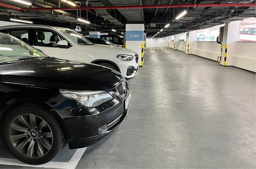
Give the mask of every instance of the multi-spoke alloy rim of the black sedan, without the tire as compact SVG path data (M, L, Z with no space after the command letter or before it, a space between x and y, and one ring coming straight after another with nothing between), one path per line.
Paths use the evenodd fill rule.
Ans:
M33 114L22 114L10 123L9 139L22 156L41 158L51 150L53 134L42 118Z

